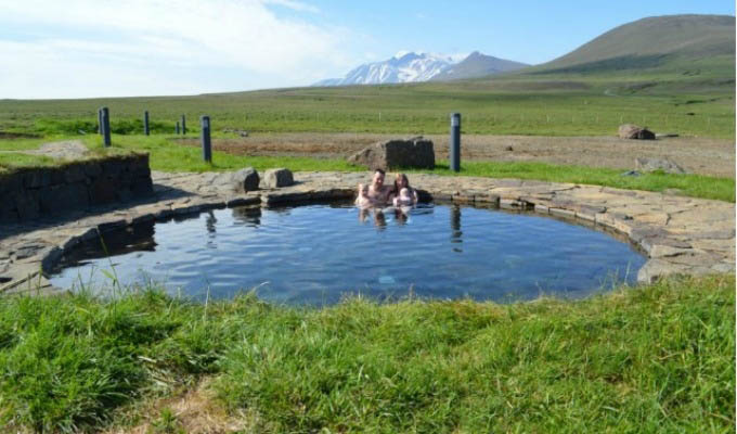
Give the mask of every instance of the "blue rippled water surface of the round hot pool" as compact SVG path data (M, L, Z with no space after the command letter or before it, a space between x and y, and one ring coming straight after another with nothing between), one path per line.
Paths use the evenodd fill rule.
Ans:
M357 225L354 213L373 222ZM551 240L546 248L539 248L541 239ZM357 291L379 299L411 291L510 301L541 291L578 297L608 282L633 282L645 260L630 245L582 227L444 205L217 209L105 233L106 250L93 241L65 254L67 268L50 276L54 285L94 288L95 270L115 267L124 285L150 277L202 299L258 286L259 297L276 303L332 304Z

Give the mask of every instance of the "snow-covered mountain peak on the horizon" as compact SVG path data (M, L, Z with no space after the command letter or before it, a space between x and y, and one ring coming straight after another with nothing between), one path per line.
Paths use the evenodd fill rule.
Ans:
M429 53L398 53L385 62L363 64L344 78L328 78L313 86L379 85L386 82L427 81L445 71L451 58Z

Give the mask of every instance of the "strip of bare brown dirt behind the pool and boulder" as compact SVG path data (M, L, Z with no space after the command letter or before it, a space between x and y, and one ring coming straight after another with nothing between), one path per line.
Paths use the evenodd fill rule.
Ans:
M379 140L401 135L280 133L217 139L214 146L238 155L297 155L342 158ZM435 142L436 158L448 159L448 136L426 136ZM183 141L197 145L196 139ZM512 150L508 150L512 146ZM464 136L466 159L544 162L554 164L634 168L635 157L669 157L687 170L735 177L735 144L728 140L667 138L654 141L616 137Z

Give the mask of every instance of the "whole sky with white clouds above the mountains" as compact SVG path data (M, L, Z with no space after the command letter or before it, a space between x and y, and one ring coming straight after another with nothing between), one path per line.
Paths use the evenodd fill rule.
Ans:
M543 63L645 16L733 1L0 0L0 98L307 86L414 50ZM12 60L12 61L10 61Z

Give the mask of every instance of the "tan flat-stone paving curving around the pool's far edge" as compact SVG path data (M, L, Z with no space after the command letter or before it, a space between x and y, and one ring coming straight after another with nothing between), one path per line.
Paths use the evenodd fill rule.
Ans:
M92 207L43 216L0 228L0 294L55 289L43 278L62 254L98 233L152 219L211 208L352 199L371 173L294 174L295 184L237 193L212 182L219 174L152 173L154 196L146 202ZM735 270L735 205L608 187L514 179L410 176L425 200L533 210L629 239L649 260L637 275L652 282L670 275ZM40 290L39 290L40 286Z

